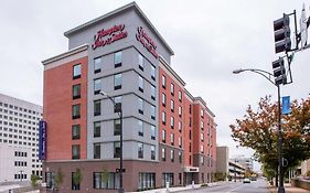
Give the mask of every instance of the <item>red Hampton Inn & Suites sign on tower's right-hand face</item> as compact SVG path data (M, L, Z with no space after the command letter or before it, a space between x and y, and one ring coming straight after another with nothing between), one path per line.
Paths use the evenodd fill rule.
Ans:
M156 57L158 58L157 45L154 41L146 33L142 26L138 26L136 39Z

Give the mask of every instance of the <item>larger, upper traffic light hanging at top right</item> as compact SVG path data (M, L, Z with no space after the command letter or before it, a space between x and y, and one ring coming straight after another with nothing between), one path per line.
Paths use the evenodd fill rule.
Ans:
M274 31L276 53L290 51L291 41L288 14L284 14L284 18L274 21Z

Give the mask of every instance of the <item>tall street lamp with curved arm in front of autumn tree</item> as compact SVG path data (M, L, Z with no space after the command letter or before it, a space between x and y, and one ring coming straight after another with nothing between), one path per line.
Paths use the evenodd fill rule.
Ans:
M278 153L278 161L279 161L279 187L278 187L278 193L285 193L285 186L284 186L284 163L282 163L282 129L281 129L281 100L280 100L280 84L276 84L271 81L271 77L275 77L271 73L263 69L256 69L256 68L246 68L246 69L235 69L233 71L233 74L239 74L243 72L253 72L256 74L259 74L267 78L272 85L275 85L278 89L278 132L279 132L279 153Z

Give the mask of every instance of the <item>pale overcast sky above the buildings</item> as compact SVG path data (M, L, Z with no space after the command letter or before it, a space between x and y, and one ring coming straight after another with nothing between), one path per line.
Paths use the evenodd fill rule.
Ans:
M0 2L0 93L39 105L43 101L41 61L67 51L63 33L100 17L129 0L3 0ZM299 23L302 3L310 0L137 0L148 19L172 47L173 69L193 96L201 96L215 114L217 144L232 157L249 157L231 138L229 124L248 105L272 95L276 87L264 77L236 68L271 72L272 21L295 9ZM291 18L291 23L293 20ZM299 28L299 26L298 26ZM310 93L310 49L296 53L293 83L282 88L292 99Z

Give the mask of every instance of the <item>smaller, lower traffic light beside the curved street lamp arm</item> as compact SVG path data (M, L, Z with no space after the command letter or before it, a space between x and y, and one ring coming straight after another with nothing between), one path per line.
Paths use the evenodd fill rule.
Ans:
M274 61L272 68L274 68L274 76L275 76L276 85L287 84L285 60L282 57L280 57L279 60Z

